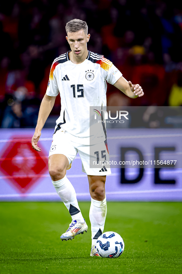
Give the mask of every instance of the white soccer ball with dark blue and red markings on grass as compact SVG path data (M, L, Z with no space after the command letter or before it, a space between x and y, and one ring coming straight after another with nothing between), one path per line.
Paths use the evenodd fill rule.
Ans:
M97 239L96 248L103 258L118 258L123 253L124 242L116 232L107 231Z

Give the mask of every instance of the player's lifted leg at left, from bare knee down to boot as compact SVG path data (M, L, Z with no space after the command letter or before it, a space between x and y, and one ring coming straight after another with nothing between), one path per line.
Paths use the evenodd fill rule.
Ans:
M83 219L82 213L76 199L75 189L66 177L69 161L63 154L53 154L49 157L49 174L52 183L59 197L69 210L72 222L65 233L61 235L62 240L73 239L77 234L87 232L87 224Z

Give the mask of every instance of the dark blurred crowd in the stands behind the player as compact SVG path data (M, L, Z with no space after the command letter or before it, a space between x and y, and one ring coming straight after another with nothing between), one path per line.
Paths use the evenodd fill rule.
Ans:
M88 49L103 54L145 95L108 84L110 106L182 105L182 2L17 0L0 3L0 126L35 127L53 60L69 50L65 25L87 22ZM57 96L52 115L61 109Z

